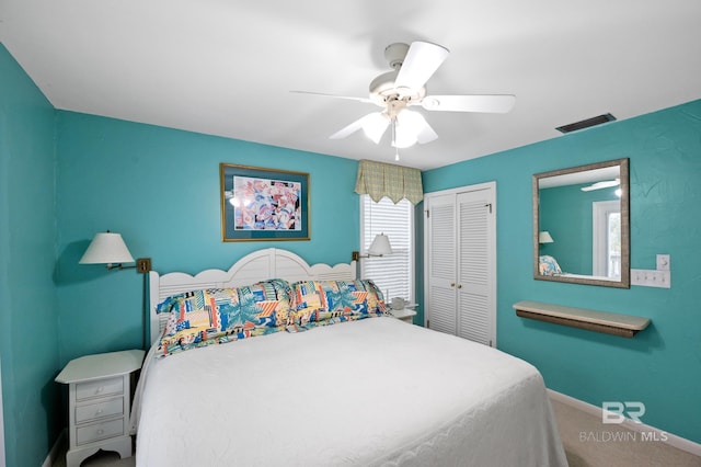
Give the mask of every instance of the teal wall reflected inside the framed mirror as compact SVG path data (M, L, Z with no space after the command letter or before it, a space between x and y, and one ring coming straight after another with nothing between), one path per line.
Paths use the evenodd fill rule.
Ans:
M563 272L594 274L594 220L591 204L618 201L616 187L583 192L588 184L540 190L540 230L548 230L552 243L540 246L540 254L553 257Z

